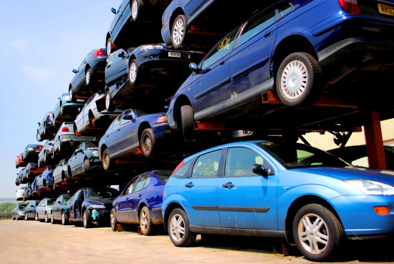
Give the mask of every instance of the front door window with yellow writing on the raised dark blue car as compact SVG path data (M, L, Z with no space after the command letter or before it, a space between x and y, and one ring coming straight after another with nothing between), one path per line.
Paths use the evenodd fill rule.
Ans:
M215 48L213 48L204 58L201 64L201 70L206 69L207 67L211 66L215 62L217 62L220 58L223 58L225 55L229 54L232 48L232 44L234 43L234 39L239 31L237 27L233 30L230 34L220 41Z

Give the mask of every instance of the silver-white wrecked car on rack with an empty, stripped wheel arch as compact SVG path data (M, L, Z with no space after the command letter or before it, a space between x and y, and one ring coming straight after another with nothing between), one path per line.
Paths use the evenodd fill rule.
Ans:
M104 93L95 93L91 96L74 120L74 133L86 134L92 130L106 129L110 122L123 112L119 109L113 112L101 111L105 109L104 104Z

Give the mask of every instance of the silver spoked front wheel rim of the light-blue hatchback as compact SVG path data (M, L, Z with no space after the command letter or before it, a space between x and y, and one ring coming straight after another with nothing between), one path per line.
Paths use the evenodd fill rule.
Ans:
M322 254L329 243L326 223L316 214L304 215L298 223L298 239L307 252Z

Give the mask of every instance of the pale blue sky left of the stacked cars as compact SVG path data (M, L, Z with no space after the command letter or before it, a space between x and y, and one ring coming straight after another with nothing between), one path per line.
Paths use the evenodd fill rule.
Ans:
M16 156L68 92L72 69L105 36L121 0L0 0L0 197L14 198ZM44 141L42 142L42 144Z

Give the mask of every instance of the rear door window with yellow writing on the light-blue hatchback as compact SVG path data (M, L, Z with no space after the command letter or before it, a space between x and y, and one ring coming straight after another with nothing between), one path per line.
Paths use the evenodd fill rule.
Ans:
M216 150L198 157L193 165L192 177L218 176L218 168L222 150Z

